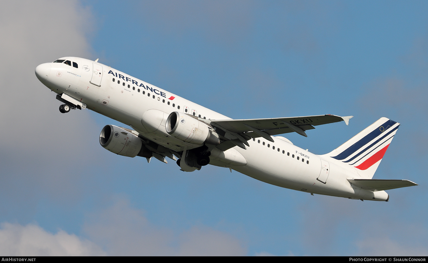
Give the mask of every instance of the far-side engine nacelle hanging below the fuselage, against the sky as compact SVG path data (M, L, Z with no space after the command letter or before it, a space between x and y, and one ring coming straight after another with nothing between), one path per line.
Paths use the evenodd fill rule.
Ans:
M152 152L143 146L143 141L137 135L118 126L104 126L100 134L100 144L118 155L152 157Z

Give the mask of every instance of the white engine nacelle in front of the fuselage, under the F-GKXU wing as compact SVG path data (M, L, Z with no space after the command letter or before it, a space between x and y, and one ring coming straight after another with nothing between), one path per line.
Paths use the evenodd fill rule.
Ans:
M185 143L218 145L220 140L205 123L177 111L166 119L166 132Z

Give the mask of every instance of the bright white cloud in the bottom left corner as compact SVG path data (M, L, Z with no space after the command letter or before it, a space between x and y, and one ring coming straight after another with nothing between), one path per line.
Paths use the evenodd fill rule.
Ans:
M102 249L74 234L51 234L37 225L3 223L0 254L4 256L104 256Z

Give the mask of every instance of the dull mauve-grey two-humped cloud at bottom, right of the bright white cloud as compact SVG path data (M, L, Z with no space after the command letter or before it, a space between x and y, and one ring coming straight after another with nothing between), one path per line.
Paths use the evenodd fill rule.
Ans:
M130 207L126 199L119 199L113 206L93 214L85 232L114 256L246 254L236 237L205 226L194 226L177 237L172 230L149 222L143 212Z

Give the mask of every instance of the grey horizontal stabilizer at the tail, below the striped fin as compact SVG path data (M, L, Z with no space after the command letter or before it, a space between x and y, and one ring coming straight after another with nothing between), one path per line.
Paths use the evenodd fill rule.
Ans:
M351 184L373 192L418 185L409 180L349 179Z

